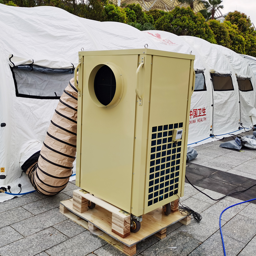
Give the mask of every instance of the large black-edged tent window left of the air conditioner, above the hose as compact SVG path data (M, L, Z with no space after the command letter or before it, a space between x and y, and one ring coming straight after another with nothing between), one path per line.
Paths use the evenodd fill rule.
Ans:
M34 99L60 99L69 80L74 77L73 70L35 67L31 69L18 66L11 68L16 96ZM38 71L37 71L38 70Z

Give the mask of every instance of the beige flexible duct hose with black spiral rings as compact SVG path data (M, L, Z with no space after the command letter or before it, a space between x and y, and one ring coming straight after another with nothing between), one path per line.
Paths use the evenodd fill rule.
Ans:
M25 170L40 194L56 195L67 186L76 159L76 142L77 89L72 78L55 109L38 162Z

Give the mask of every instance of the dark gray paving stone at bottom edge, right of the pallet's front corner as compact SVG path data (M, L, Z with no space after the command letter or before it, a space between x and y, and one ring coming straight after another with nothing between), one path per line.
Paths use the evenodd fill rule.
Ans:
M159 240L150 248L143 251L143 256L185 256L193 251L198 244L199 240L185 235L183 232L173 231L167 237ZM177 247L177 248L168 248Z

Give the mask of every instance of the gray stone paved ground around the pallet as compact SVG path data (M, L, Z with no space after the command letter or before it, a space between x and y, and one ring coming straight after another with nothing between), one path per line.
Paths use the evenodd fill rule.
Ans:
M219 198L256 183L256 152L225 150L215 141L195 147L198 157L187 163L187 176L206 194ZM224 171L224 172L223 172ZM0 203L1 256L123 256L124 254L59 213L59 201L77 189L69 182L62 193L47 197L28 194ZM249 191L249 192L248 192ZM223 209L256 197L256 187L246 195L213 201L185 183L181 203L202 215L200 223L176 223L167 237L152 236L137 245L140 256L220 256L219 215ZM244 203L222 215L222 232L228 256L256 255L256 205ZM169 248L175 247L175 248Z

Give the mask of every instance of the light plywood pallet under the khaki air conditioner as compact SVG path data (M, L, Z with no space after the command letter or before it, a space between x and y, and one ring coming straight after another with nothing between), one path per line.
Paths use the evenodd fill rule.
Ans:
M99 198L95 199L94 197L93 201L96 203L95 208L87 210L84 207L84 203L87 204L87 202L83 201L82 198L77 199L77 194L78 192L81 193L81 191L74 190L73 192L73 199L60 202L60 212L82 227L90 230L93 234L97 234L100 238L112 244L115 248L128 256L136 254L136 244L147 237L150 237L153 234L160 239L166 237L166 228L175 222L180 221L185 225L190 223L190 218L183 216L179 211L176 210L166 216L163 214L162 207L160 207L142 216L143 221L141 222L141 228L138 232L130 233L129 225L129 235L122 237L119 232L115 232L116 230L113 231L113 211L115 213L117 209L121 211L119 208L116 208L113 205L108 205L107 202ZM86 197L89 197L90 199L92 196L90 194L83 195L86 195ZM78 201L83 201L83 204L79 204ZM81 210L81 208L83 209ZM111 210L109 208L111 208ZM174 208L172 208L172 210L174 210ZM127 216L130 218L130 215ZM123 217L123 219L127 218L127 216Z

